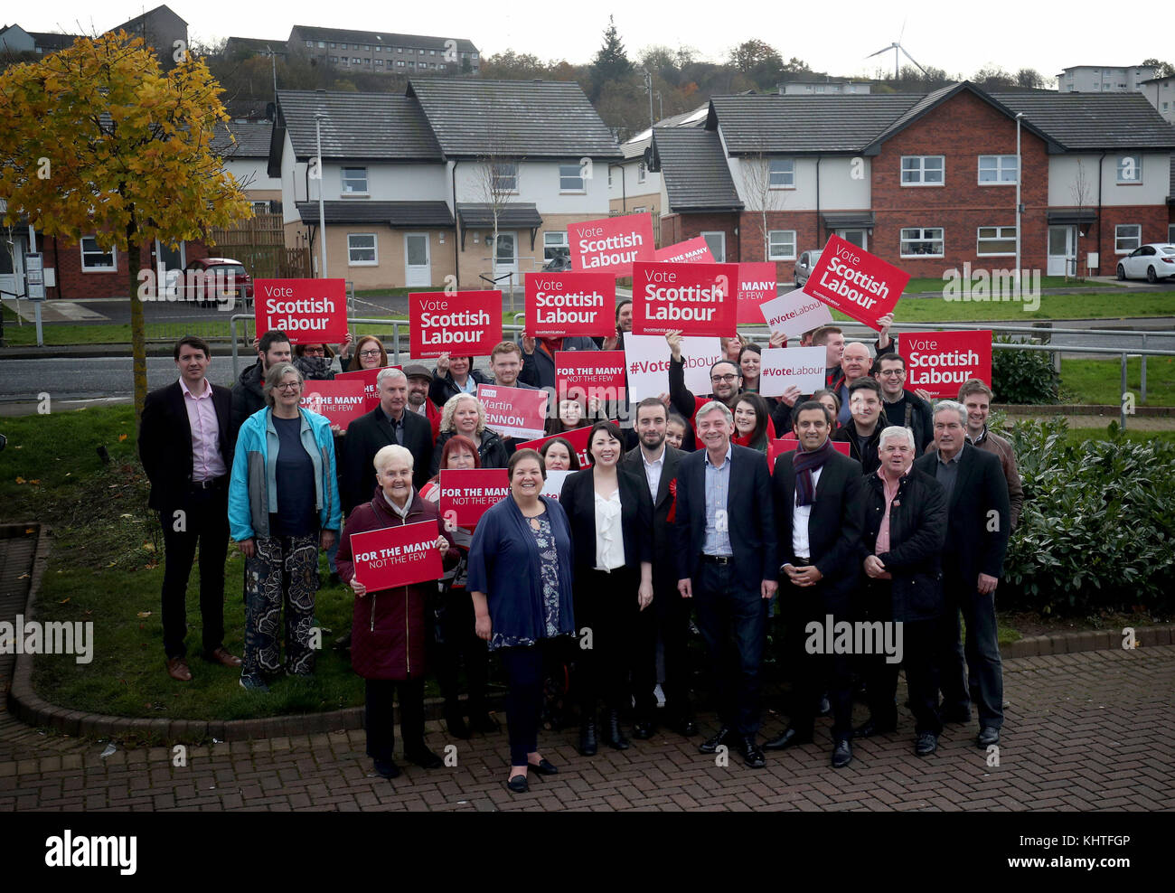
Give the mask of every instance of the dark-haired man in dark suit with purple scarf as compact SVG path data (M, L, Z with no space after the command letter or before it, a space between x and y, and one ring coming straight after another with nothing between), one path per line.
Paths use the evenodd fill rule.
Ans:
M832 414L815 401L799 404L792 427L799 448L776 459L771 488L776 533L783 562L780 604L787 617L786 651L792 660L791 723L767 750L812 740L818 704L825 690L832 705L832 765L853 759L851 654L810 654L810 623L850 620L858 583L857 550L861 536L861 465L833 449ZM821 636L821 639L824 636Z

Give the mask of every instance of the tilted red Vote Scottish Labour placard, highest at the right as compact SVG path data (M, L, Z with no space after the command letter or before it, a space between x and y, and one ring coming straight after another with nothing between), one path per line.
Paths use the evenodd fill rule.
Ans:
M878 318L893 310L907 282L908 273L833 235L804 290L880 331Z

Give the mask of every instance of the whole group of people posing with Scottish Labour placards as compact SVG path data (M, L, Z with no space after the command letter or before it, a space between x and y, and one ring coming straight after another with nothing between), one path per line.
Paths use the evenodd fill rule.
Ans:
M987 428L993 395L983 382L933 405L905 388L889 322L872 350L833 325L805 333L800 344L826 349L826 387L780 397L758 392L761 348L740 337L724 340L711 392L692 394L680 333L670 333L667 394L631 414L615 401L563 395L551 401L551 437L538 451L486 425L477 385L553 389L556 352L623 347L629 302L617 310L616 337L504 341L488 374L469 356L389 367L374 336L295 349L275 330L229 390L207 377L208 345L181 338L179 381L148 396L139 436L164 538L167 671L192 679L184 597L199 546L203 657L239 667L253 692L282 672L313 673L323 550L330 582L354 593L351 633L340 644L364 679L368 756L387 778L400 774L394 701L405 759L441 765L424 741L429 673L451 736L498 728L486 694L491 654L508 682L511 791L526 790L528 772L558 771L539 753L538 728L566 667L580 753L651 738L658 713L676 733L698 734L691 620L718 716L703 753L728 748L761 767L765 750L811 743L815 717L830 712L832 765L842 767L854 736L898 727L899 666L918 754L934 752L944 723L968 721L972 704L978 745L996 744L994 592L1023 501L1015 456ZM781 344L783 336L768 343ZM380 369L380 403L341 431L300 398L308 378L344 368ZM589 425L583 466L563 435ZM791 443L772 468L774 441ZM476 525L446 524L439 476L476 468L505 469L510 495ZM543 492L552 471L572 472L556 496ZM368 591L351 536L419 522L437 525L442 578ZM229 538L246 562L241 657L223 644ZM786 630L790 723L760 741L773 616ZM897 653L819 646L833 640L820 630L846 623L897 627ZM870 718L854 730L862 680Z

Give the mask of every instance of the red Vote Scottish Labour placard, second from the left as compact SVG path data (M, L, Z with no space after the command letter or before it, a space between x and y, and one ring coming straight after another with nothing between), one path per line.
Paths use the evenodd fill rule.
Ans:
M502 293L412 291L408 295L412 356L489 356L502 341Z

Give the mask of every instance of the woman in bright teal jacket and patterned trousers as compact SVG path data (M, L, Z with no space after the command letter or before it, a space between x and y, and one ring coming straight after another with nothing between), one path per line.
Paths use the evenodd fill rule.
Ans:
M338 536L335 444L324 416L298 408L302 374L270 367L266 408L237 435L228 490L228 523L244 555L244 656L241 686L267 691L281 669L280 619L286 605L286 672L314 671L310 627L318 588L318 546Z

